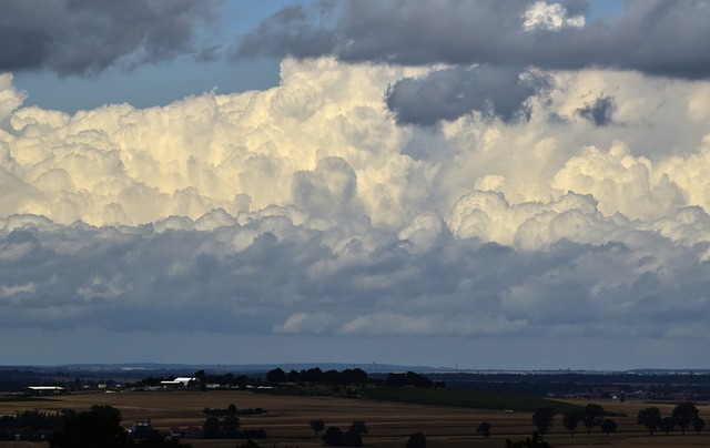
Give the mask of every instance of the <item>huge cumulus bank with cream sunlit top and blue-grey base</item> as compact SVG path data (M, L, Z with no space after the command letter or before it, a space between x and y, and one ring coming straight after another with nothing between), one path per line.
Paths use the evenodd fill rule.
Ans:
M285 60L267 91L74 115L3 75L2 325L684 339L710 318L704 82L550 72L529 121L398 125L385 92L427 70ZM579 112L599 98L605 125Z

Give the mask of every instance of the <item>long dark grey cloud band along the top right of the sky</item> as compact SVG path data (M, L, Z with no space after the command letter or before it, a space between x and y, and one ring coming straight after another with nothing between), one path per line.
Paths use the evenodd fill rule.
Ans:
M243 37L234 54L333 54L396 64L534 65L542 70L609 68L683 79L710 78L710 3L636 0L611 23L558 30L523 27L531 1L349 1L282 10ZM585 3L567 2L568 16ZM323 12L326 11L326 12ZM296 13L297 12L297 13ZM326 14L337 12L337 23Z

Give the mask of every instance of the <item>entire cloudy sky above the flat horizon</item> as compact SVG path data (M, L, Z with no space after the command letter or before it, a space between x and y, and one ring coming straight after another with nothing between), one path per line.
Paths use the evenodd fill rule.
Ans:
M710 368L709 22L6 0L0 365Z

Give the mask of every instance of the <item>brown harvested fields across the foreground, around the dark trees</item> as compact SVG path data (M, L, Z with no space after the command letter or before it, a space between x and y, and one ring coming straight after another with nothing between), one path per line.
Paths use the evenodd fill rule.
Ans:
M258 416L241 417L242 427L264 428L267 439L258 440L264 448L307 448L323 446L310 429L311 420L323 419L326 427L347 428L353 420L363 420L369 429L363 441L366 447L403 448L409 435L424 432L428 447L505 447L505 439L525 438L532 431L530 411L486 410L464 407L400 404L383 400L277 396L250 391L211 390L200 391L124 391L115 394L62 395L50 399L33 400L0 397L0 415L14 415L27 409L57 411L64 408L85 410L92 405L111 405L123 415L123 424L130 427L135 420L151 419L154 427L168 430L170 427L185 428L202 426L205 416L200 414L205 407L226 408L230 404L237 408L261 407L267 413ZM567 401L566 405L586 406L588 401ZM710 434L671 432L670 436L657 434L649 437L642 427L636 424L640 408L649 404L598 401L608 411L618 414L615 420L619 425L617 434L605 436L596 428L591 437L580 428L572 438L561 426L557 416L551 432L546 439L554 447L587 447L596 445L641 448L710 446ZM661 408L663 415L670 415L672 405L653 405ZM708 419L710 408L698 406L700 416ZM481 421L488 421L493 435L484 439L475 434ZM235 440L185 439L193 447L236 447ZM42 444L8 442L8 447L40 447Z

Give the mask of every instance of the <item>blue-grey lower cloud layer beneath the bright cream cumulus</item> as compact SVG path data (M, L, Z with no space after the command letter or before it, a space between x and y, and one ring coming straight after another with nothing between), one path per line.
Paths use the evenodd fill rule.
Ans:
M527 252L444 232L413 253L374 228L332 247L339 230L276 216L212 232L24 227L0 231L6 328L657 337L708 318L707 245L652 233L632 238L653 251L560 241ZM245 234L247 247L230 247Z

